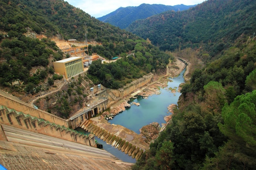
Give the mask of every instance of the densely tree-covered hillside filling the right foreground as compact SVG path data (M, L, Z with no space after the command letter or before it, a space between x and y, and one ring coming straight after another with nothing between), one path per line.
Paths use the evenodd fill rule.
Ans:
M254 170L256 41L247 36L182 86L171 122L133 170ZM247 40L247 41L243 41ZM209 54L202 57L207 60Z

